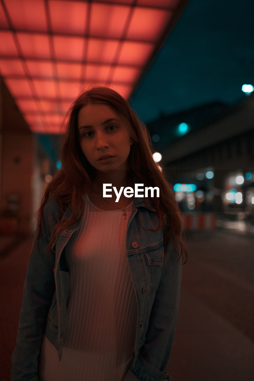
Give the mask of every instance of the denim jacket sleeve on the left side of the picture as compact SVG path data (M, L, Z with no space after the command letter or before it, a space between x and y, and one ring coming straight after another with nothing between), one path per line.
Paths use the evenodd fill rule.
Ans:
M11 356L11 381L38 380L37 367L42 338L55 293L55 253L49 252L47 248L48 234L50 225L44 213L42 233L27 265L16 346ZM32 247L33 245L34 242Z

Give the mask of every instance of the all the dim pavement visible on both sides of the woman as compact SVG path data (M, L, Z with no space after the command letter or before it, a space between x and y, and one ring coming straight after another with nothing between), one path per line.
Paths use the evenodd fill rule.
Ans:
M32 239L0 236L0 381L10 379ZM254 235L224 225L187 232L186 245L188 261L166 371L173 381L253 381Z

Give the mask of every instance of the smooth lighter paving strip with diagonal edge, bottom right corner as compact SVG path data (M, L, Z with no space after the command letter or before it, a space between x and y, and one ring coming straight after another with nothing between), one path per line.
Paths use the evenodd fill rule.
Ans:
M182 287L166 372L173 381L252 381L254 342Z

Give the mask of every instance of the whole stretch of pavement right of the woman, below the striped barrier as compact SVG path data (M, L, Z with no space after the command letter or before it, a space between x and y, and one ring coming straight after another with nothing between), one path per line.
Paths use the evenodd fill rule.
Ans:
M254 237L189 232L173 381L254 380Z

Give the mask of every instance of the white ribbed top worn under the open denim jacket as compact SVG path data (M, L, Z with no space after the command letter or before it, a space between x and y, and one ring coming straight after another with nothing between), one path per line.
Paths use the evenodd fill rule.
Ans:
M125 237L133 202L125 219L84 200L77 238L62 253L70 271L63 357L44 336L40 381L122 381L132 360L137 302Z

